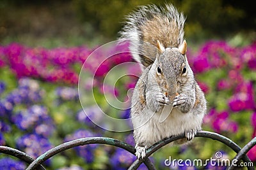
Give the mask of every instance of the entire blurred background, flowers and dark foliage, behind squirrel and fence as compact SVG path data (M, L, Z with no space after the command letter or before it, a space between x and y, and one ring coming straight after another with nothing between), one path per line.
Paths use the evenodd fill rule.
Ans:
M77 138L104 136L134 145L132 132L100 129L88 115L100 120L100 111L89 96L79 103L79 72L90 53L113 41L136 6L164 1L0 1L0 145L38 157L53 146ZM205 92L208 114L203 129L218 132L244 146L256 136L256 13L253 1L168 1L186 15L188 59ZM109 52L127 49L113 46ZM127 91L138 78L125 76L104 85L112 67L133 61L129 53L102 62L104 51L84 66L88 83L100 108L116 118L129 118L128 110L116 110L103 91L127 101ZM138 67L122 68L138 74ZM93 77L93 73L95 76ZM115 73L113 73L115 74ZM113 75L115 77L115 75ZM93 79L93 85L90 82ZM87 80L87 79L86 79ZM85 82L86 83L86 82ZM104 90L103 90L104 89ZM118 126L118 125L117 125ZM131 126L131 124L127 124ZM150 158L157 169L225 169L225 167L164 166L164 160L209 159L216 152L224 159L234 153L211 139L196 138L191 145L166 146ZM256 146L248 157L256 165ZM46 169L127 169L136 158L106 145L79 146L44 163ZM27 164L0 154L0 169L25 169ZM140 169L147 169L141 165Z

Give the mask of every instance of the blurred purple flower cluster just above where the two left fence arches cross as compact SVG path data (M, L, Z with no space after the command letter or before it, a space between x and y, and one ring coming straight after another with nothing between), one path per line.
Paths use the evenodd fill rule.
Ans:
M37 134L26 134L20 137L17 139L16 145L19 150L28 153L34 159L52 148L48 139ZM49 160L47 163L49 164Z

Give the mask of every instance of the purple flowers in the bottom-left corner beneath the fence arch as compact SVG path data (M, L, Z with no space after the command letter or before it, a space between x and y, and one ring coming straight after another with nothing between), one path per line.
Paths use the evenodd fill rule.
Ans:
M23 170L26 168L26 164L19 160L13 160L10 158L2 158L0 159L0 169L15 169L15 170Z

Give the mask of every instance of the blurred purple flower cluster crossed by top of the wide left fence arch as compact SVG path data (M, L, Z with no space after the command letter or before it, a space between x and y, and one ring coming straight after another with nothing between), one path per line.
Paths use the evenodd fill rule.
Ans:
M77 130L74 132L72 135L68 135L65 138L65 141L72 141L74 139L79 139L79 138L90 138L90 137L95 137L99 136L97 134L94 134L93 132L86 131L86 130ZM97 144L90 144L90 145L84 145L84 146L77 146L74 148L76 150L77 155L80 157L83 157L83 159L87 163L92 163L94 160L94 150L97 148Z

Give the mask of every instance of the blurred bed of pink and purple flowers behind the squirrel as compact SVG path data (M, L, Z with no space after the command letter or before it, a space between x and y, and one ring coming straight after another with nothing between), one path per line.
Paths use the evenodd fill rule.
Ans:
M116 48L127 48L127 44L109 50ZM134 145L132 132L100 129L81 109L77 82L81 66L91 52L93 49L84 46L54 49L30 48L17 43L0 46L0 145L17 148L34 158L53 146L77 138L104 136ZM242 48L232 47L225 41L208 41L195 53L189 50L187 56L208 102L209 113L204 118L203 129L223 134L244 146L256 136L256 44ZM132 61L129 53L117 54L104 62L102 57L104 53L97 54L93 63L85 66L88 73L95 73L93 88L98 97L102 95L102 81L108 71ZM125 71L138 73L140 68ZM111 94L125 100L127 90L134 87L136 80L133 76L121 80ZM85 109L86 113L100 119L97 107ZM109 109L110 115L111 111ZM118 118L129 117L129 110L116 112ZM209 159L218 151L229 159L236 155L221 143L196 138L189 146L166 146L150 159L157 169L202 169L166 167L164 160L170 156L173 159ZM256 162L256 146L248 156ZM60 153L47 160L44 166L47 169L126 169L135 159L120 148L87 145ZM20 160L0 154L0 169L24 169L26 166ZM142 164L139 169L147 168Z

